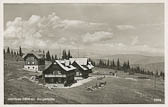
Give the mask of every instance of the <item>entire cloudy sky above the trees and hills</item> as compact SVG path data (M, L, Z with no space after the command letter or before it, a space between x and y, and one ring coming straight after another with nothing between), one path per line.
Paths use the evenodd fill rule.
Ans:
M5 4L4 45L163 55L164 4Z

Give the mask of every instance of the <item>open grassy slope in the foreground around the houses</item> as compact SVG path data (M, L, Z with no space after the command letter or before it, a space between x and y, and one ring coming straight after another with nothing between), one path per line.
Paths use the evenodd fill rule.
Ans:
M156 89L154 89L153 77L151 80L141 80L136 77L144 75L128 75L122 71L118 72L119 78L106 77L103 81L107 85L93 92L88 92L86 87L93 86L100 80L94 79L84 85L70 89L53 89L39 86L27 79L18 78L34 75L33 72L23 71L22 61L5 60L4 65L4 101L5 104L144 104L144 103L164 103L164 81L157 78ZM95 72L107 73L113 70L105 68L95 68ZM94 76L100 76L92 74ZM135 78L133 81L126 78ZM55 101L9 101L8 98L54 98ZM154 102L154 98L159 98L161 102Z

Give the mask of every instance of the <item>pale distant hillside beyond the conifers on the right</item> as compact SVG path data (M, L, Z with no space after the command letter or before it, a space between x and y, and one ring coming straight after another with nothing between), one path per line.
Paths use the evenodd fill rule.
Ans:
M113 60L116 62L119 58L120 63L124 61L130 62L132 67L140 66L145 70L164 72L164 57L163 56L144 56L138 54L117 54L112 56L104 56L100 58L93 58L96 63L99 63L100 59L103 60Z

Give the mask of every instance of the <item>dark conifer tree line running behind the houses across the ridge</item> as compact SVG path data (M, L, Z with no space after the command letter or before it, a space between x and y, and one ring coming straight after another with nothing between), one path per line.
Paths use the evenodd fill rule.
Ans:
M43 50L43 53L45 54L45 60L46 61L55 61L57 59L69 59L72 58L71 52L70 50L68 50L68 52L64 49L62 51L62 56L60 58L57 57L57 55L51 55L50 51L48 50L46 53ZM19 47L19 50L13 50L10 49L9 47L5 50L4 49L4 56L6 54L10 54L11 56L16 56L16 57L22 57L23 56L23 52L22 52L22 48L21 46ZM18 58L17 58L18 60ZM156 71L155 73L153 71L149 71L149 70L145 70L143 68L140 68L140 66L136 66L136 67L130 67L130 62L128 61L124 61L123 64L120 63L119 58L117 59L117 61L115 62L114 60L102 60L100 59L98 63L96 63L95 61L91 60L90 58L88 59L94 66L96 67L101 67L101 68L109 68L109 69L114 69L114 70L122 70L126 73L129 74L134 74L134 73L141 73L141 74L147 74L147 75L157 75L157 76L163 76L164 78L164 72L158 72Z

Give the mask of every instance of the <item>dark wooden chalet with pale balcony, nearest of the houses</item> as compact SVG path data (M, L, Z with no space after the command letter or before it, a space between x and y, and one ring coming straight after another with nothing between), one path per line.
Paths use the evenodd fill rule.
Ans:
M43 71L43 79L45 83L62 84L64 86L71 85L74 82L75 67L66 64L60 60L48 65Z

